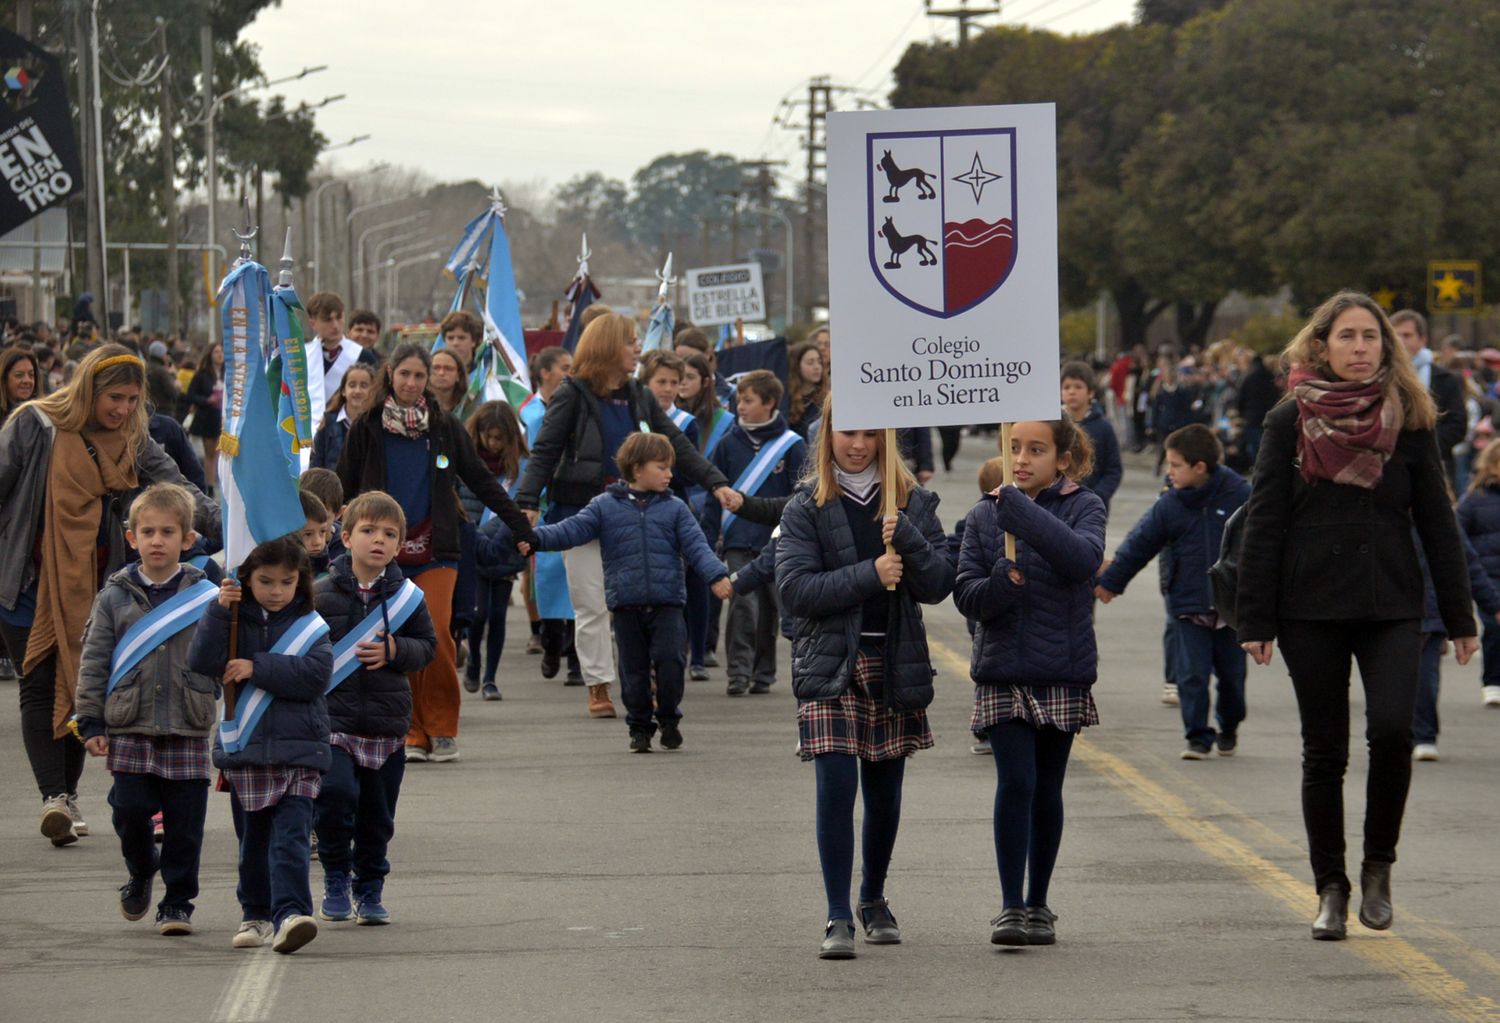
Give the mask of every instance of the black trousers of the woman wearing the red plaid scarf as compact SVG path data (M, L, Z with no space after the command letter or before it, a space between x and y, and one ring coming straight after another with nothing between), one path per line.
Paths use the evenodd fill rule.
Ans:
M1412 784L1412 710L1422 656L1419 622L1281 621L1281 654L1302 716L1302 818L1312 880L1322 891L1344 873L1344 771L1348 766L1348 675L1365 686L1365 860L1395 862Z

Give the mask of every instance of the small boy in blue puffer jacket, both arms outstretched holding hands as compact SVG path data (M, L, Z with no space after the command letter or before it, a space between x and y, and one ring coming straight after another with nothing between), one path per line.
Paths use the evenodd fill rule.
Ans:
M537 526L537 550L567 550L598 540L604 562L604 603L615 616L620 690L630 728L630 752L650 753L651 680L662 746L682 746L682 669L687 588L682 558L724 598L729 570L714 558L686 502L668 492L676 454L660 434L632 434L615 453L612 483L578 514ZM528 554L522 544L522 554Z

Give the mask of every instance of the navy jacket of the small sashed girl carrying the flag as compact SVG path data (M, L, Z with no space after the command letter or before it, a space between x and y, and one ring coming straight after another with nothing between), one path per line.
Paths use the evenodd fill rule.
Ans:
M324 636L302 657L273 654L272 646L292 622L308 614L302 600L274 614L255 603L249 588L240 602L240 630L236 657L255 663L250 684L266 690L274 699L266 708L260 728L238 753L225 753L219 734L213 735L213 765L220 768L273 764L304 766L327 771L332 764L328 750L328 705L322 690L333 675L333 646ZM230 663L230 609L218 602L208 604L198 621L198 632L188 651L188 668L212 678L224 676ZM240 706L244 705L243 688L238 692Z

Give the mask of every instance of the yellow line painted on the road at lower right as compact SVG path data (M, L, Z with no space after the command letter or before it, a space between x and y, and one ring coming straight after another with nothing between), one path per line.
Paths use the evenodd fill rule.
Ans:
M969 676L969 662L945 644L933 640L930 650L957 670L960 678ZM1212 820L1197 816L1185 800L1148 778L1130 762L1113 753L1106 753L1082 736L1072 744L1072 754L1168 831L1245 878L1299 918L1308 916L1314 909L1311 891L1305 882L1298 880ZM1248 819L1239 812L1233 812L1232 816L1239 820ZM1437 960L1410 942L1389 932L1360 928L1358 933L1360 938L1344 942L1344 948L1372 966L1395 975L1412 992L1440 1006L1452 1018L1462 1023L1500 1022L1500 1005L1496 1005L1494 999L1470 992L1464 981L1449 974Z

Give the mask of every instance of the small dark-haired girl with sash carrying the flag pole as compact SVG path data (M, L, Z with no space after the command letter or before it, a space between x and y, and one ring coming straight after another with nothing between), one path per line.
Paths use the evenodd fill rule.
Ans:
M308 864L314 800L330 764L322 694L333 674L333 648L327 622L312 609L312 566L296 534L250 550L238 576L249 592L232 579L220 584L219 602L208 606L194 634L188 664L225 686L242 684L236 717L213 740L213 764L228 782L240 837L243 922L234 946L255 948L274 934L274 951L294 952L318 936ZM278 651L288 633L286 652Z

